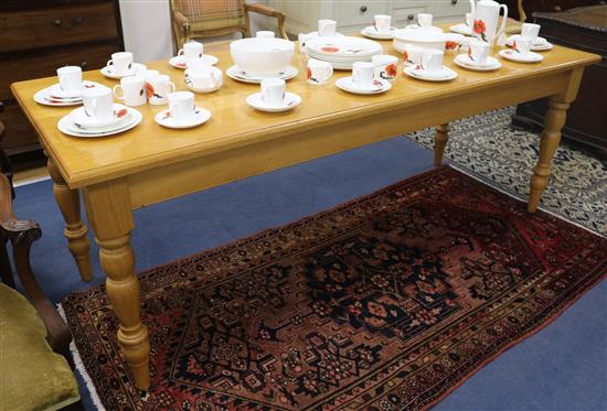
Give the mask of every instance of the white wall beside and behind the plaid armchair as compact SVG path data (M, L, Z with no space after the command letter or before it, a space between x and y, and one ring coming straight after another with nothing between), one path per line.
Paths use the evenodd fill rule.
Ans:
M251 2L267 3L267 0ZM120 0L125 48L134 53L136 62L164 60L174 55L170 13L169 0ZM251 30L255 33L267 23L264 17L252 15ZM271 30L275 25L275 22L270 24Z

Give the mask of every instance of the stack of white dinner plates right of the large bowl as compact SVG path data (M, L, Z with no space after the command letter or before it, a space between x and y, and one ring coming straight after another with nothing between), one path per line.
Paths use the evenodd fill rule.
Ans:
M371 62L373 55L382 53L380 43L360 37L317 37L306 43L308 57L331 63L337 69L352 69L355 62Z

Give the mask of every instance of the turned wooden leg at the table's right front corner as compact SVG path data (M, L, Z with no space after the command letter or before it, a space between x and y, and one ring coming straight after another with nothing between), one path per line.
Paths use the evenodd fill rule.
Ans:
M549 111L544 120L544 131L540 137L540 154L537 164L533 169L531 176L531 187L529 195L528 210L534 213L540 205L540 197L547 186L552 169L552 158L561 142L561 130L567 119L567 109L579 88L584 68L574 71L569 77L566 89L556 96L550 98Z

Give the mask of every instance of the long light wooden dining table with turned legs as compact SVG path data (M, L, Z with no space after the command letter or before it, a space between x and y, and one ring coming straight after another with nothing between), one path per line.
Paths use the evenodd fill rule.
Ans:
M386 53L397 55L391 42L381 43ZM207 44L205 53L219 57L217 67L224 73L233 64L227 42ZM92 278L92 266L87 227L81 217L81 193L84 197L107 277L106 292L120 323L121 353L136 387L147 390L150 385L149 335L141 322L140 286L130 245L136 208L430 126L437 127L438 165L448 140L449 121L550 97L528 205L530 213L536 210L584 67L600 57L554 46L543 53L544 60L537 64L499 58L500 69L472 72L452 63L456 54L445 55L445 65L458 73L451 82L426 83L405 77L400 71L388 93L360 96L340 90L333 82L309 85L306 58L296 50L291 64L299 75L287 83L287 89L298 94L302 104L289 112L254 110L245 100L259 86L235 82L224 74L220 90L195 95L196 105L212 112L207 123L184 130L166 129L153 117L167 107L147 105L137 107L143 120L135 129L97 139L74 138L58 131L57 121L73 108L34 102L34 94L56 83L56 77L11 86L49 158L53 192L65 219L64 235L79 273L87 281ZM178 89L187 89L183 72L172 68L167 61L147 66L169 74ZM336 72L333 79L347 75L350 73ZM86 72L84 78L108 87L118 84L98 71Z

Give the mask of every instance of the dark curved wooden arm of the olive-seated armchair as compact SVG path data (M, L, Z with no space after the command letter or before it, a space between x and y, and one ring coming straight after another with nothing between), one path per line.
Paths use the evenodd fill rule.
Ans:
M30 266L31 246L42 236L42 230L38 223L20 220L13 215L11 187L3 175L0 175L0 236L3 241L12 242L17 273L28 299L46 326L46 340L54 351L68 355L68 346L72 340L70 328L40 289Z

